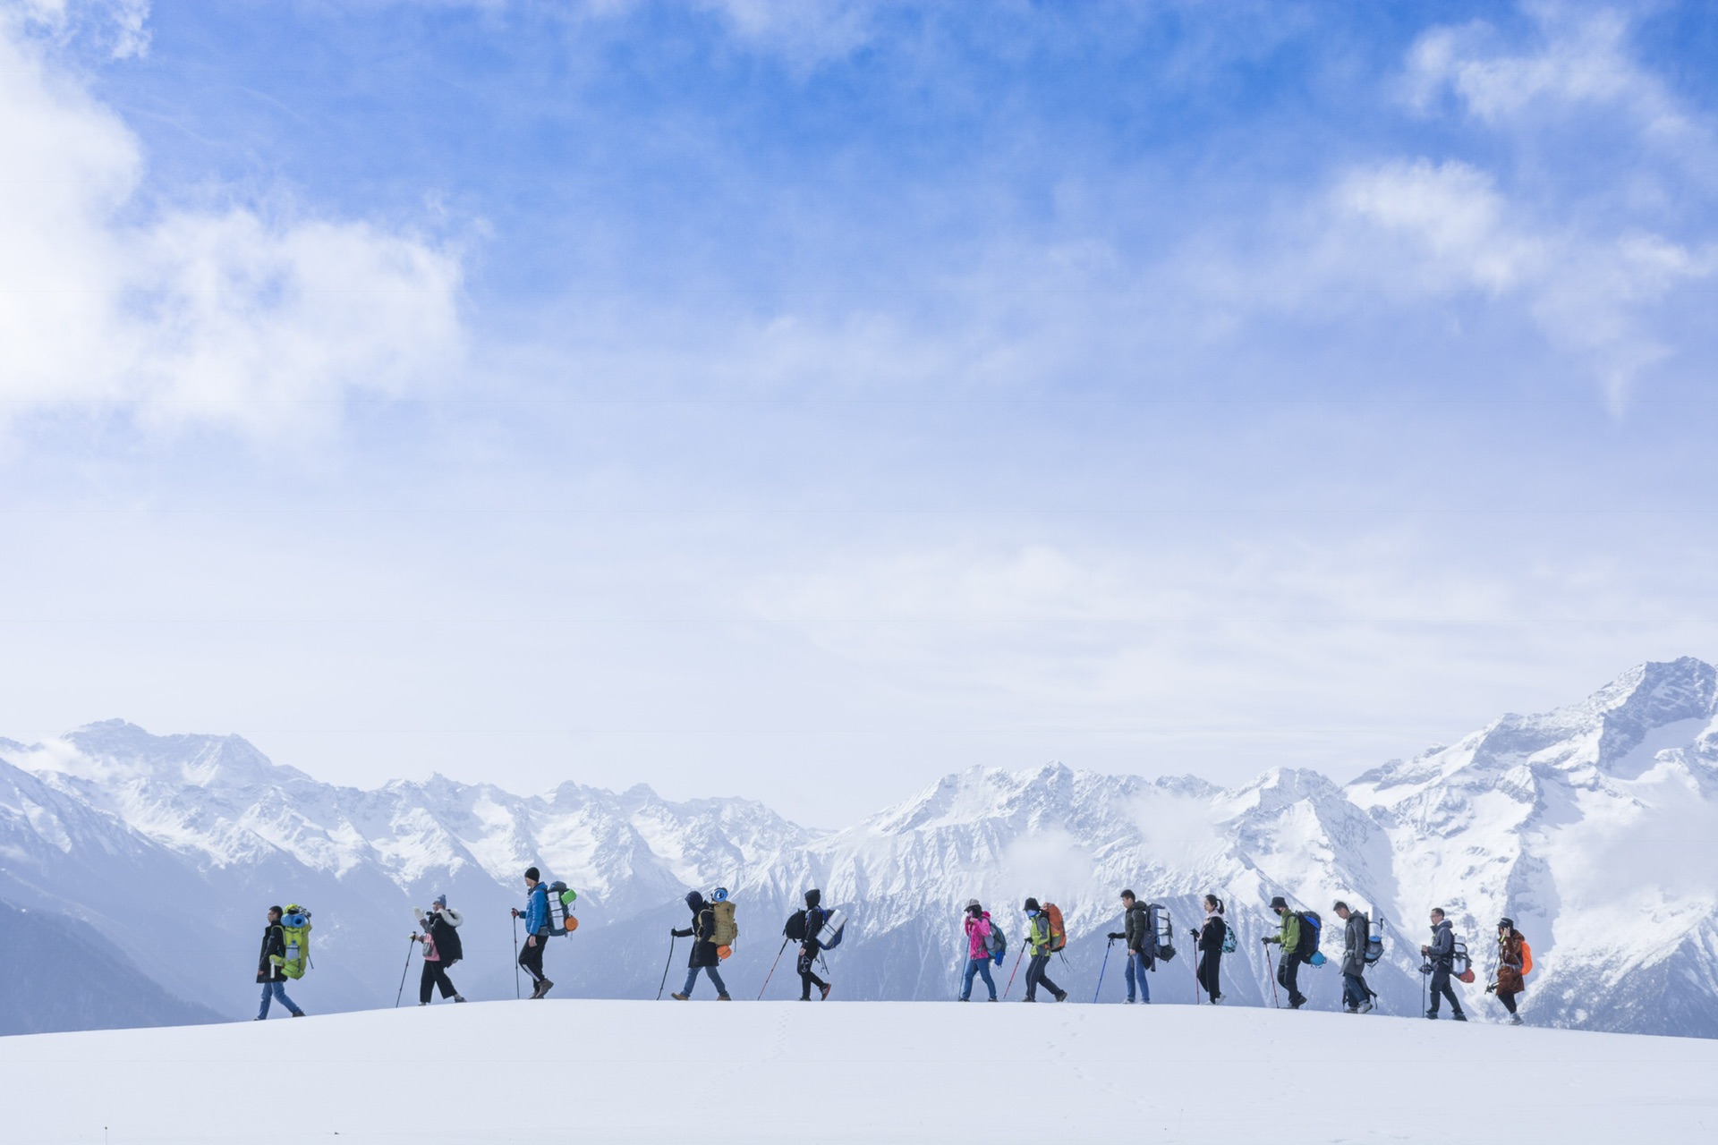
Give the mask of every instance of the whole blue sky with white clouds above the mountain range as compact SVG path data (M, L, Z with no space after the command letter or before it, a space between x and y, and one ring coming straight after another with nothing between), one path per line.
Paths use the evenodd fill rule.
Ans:
M835 824L1718 656L1704 5L0 10L9 735Z

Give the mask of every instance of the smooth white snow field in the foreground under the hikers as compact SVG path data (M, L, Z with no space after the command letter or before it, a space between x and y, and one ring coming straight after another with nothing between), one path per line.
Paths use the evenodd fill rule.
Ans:
M1244 1008L438 1003L0 1039L0 1076L12 1145L1718 1133L1718 1042Z

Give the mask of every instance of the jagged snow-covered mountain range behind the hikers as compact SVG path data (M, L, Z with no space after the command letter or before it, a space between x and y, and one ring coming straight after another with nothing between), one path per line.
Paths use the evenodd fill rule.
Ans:
M1069 965L1053 977L1091 999L1101 972L1113 999L1103 934L1130 886L1182 930L1180 958L1154 975L1158 1001L1192 1001L1185 927L1199 894L1227 898L1242 939L1225 960L1230 999L1266 1006L1264 903L1285 894L1328 918L1345 898L1385 918L1373 982L1397 1013L1419 1008L1424 918L1443 906L1481 980L1498 917L1529 936L1529 1021L1718 1037L1718 671L1644 664L1579 704L1503 716L1345 786L1290 769L1235 790L1055 764L971 769L833 833L747 800L675 803L643 786L519 797L436 776L362 791L271 764L237 736L120 721L43 745L0 740L0 900L93 925L163 997L232 1016L254 1004L263 910L285 901L314 913L316 968L294 987L309 1009L392 1004L411 905L438 891L467 915L460 989L510 994L507 906L533 863L581 894L581 929L548 953L557 994L655 996L680 898L720 884L740 903L723 966L739 997L758 996L782 920L821 886L852 918L830 956L838 997L948 997L960 903L981 898L1017 934L1033 894L1067 913ZM680 942L672 978L684 958ZM797 991L787 963L771 997ZM1302 987L1338 1004L1333 968L1304 972ZM1484 1015L1477 991L1471 1009Z

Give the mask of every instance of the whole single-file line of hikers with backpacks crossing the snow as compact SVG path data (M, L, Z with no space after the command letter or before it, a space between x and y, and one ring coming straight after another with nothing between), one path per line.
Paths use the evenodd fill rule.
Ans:
M577 929L579 922L572 913L577 894L564 882L545 884L536 867L529 867L524 872L524 882L526 906L524 910L512 908L510 912L515 920L515 965L531 978L531 997L541 999L555 985L543 973L545 948L551 937L570 934ZM1149 1004L1151 985L1148 973L1154 972L1160 961L1175 956L1173 925L1168 908L1146 903L1130 889L1122 891L1120 901L1122 929L1105 936L1105 956L1098 970L1098 989L1093 994L1093 1001L1096 1003L1101 996L1103 975L1110 965L1110 949L1117 942L1122 942L1122 949L1125 951L1125 1001L1132 1004L1137 997L1139 1003ZM794 912L782 927L782 949L777 951L763 989L758 991L759 999L765 989L768 989L770 978L775 977L775 968L780 965L789 944L797 944L799 1001L811 1001L813 991L818 991L819 1001L830 997L833 987L816 970L819 966L826 968L828 963L823 960L823 954L840 946L845 934L845 918L840 917L840 912L823 906L823 896L818 889L806 891L804 903L804 908ZM1187 930L1199 954L1199 963L1194 970L1194 999L1201 1001L1203 996L1203 1001L1216 1004L1223 1001L1221 960L1223 954L1237 953L1237 939L1225 917L1223 900L1216 894L1206 894L1201 905L1204 908L1201 925ZM668 970L673 966L675 944L679 939L691 939L685 984L670 994L670 997L682 1003L691 1001L698 975L703 972L716 989L716 999L723 1003L732 1001L728 987L722 980L720 965L728 958L734 941L739 937L735 905L725 888L716 888L708 900L701 891L687 893L685 906L692 915L691 924L685 927L670 927L668 965L663 966L663 980L658 985L656 997L660 999L667 989ZM1259 941L1266 949L1273 944L1278 948L1271 992L1273 997L1278 997L1276 987L1280 985L1288 996L1288 1009L1301 1009L1307 1003L1299 985L1301 966L1321 966L1326 961L1319 949L1323 922L1316 912L1290 908L1282 896L1273 898L1270 908L1276 913L1276 932L1266 934ZM1029 953L1031 958L1026 960L1024 1001L1036 1003L1039 991L1048 992L1058 1003L1067 1001L1069 992L1051 982L1048 975L1051 958L1067 948L1067 927L1062 908L1050 901L1039 903L1036 898L1027 898L1022 912L1026 913L1026 944L1015 956L1014 972L1019 973L1020 961ZM1366 982L1366 970L1383 956L1381 929L1374 929L1366 912L1352 908L1345 901L1338 900L1331 906L1331 912L1343 924L1340 961L1343 1011L1350 1015L1369 1013L1374 1008L1373 999L1378 994ZM414 913L419 930L411 934L412 946L407 953L405 972L400 975L400 992L404 994L405 973L411 970L411 953L421 951L423 972L417 987L417 1004L428 1006L436 989L440 989L443 999L464 1003L464 996L459 994L452 978L448 978L448 968L464 956L459 937L459 927L464 918L447 905L445 894L435 898L428 913L423 910L414 910ZM524 946L519 946L517 920L521 918L526 924ZM991 977L991 966L1002 966L1007 951L1003 927L974 898L962 910L962 930L966 960L957 997L962 1003L971 1001L974 980L983 980L990 992L990 1001L995 1003L996 982ZM304 970L313 965L309 960L309 932L311 915L302 906L294 903L285 910L280 906L268 908L268 924L263 929L263 949L256 970L256 980L263 985L261 1008L256 1015L258 1021L268 1016L271 1001L285 1006L294 1018L304 1016L304 1011L287 997L285 982L301 978ZM1436 1020L1441 1003L1448 1001L1450 1018L1467 1021L1453 984L1474 982L1472 961L1465 942L1455 936L1441 908L1431 912L1431 941L1421 946L1421 956L1424 960L1421 973L1429 991L1426 1016ZM1524 975L1531 970L1532 948L1515 930L1514 920L1500 920L1496 934L1496 975L1486 985L1486 992L1495 992L1498 1001L1503 1003L1503 1008L1510 1015L1510 1025L1522 1023L1515 997L1522 992ZM1010 973L1010 989L1012 984L1014 975ZM1003 994L1007 992L1008 989L1003 991ZM395 1004L399 1004L399 997L395 997Z

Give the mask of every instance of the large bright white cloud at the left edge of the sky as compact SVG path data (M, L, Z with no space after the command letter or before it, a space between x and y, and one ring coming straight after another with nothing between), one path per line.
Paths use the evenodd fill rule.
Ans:
M119 12L141 36L141 5ZM277 434L459 357L454 251L362 221L143 209L139 141L15 12L0 17L0 151L22 175L0 182L10 415L103 405Z

